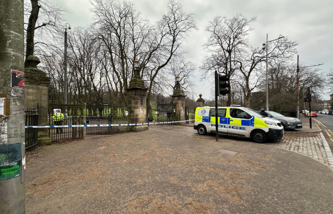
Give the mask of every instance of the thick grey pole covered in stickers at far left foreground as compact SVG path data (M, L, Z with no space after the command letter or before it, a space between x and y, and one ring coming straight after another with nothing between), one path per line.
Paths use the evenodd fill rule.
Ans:
M0 1L0 213L25 213L23 0Z

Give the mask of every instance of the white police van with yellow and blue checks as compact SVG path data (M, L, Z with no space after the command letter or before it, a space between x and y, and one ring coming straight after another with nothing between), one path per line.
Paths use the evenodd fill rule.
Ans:
M197 107L194 129L201 135L215 132L215 118L215 107ZM266 142L267 139L281 139L284 134L279 120L238 105L218 107L217 120L219 133L251 137L258 143Z

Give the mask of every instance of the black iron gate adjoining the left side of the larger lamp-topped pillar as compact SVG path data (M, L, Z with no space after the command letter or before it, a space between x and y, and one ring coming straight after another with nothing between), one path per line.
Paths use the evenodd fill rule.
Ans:
M87 105L86 123L94 124L127 124L131 123L131 110L127 106ZM97 126L87 127L87 134L114 134L130 131L130 126Z

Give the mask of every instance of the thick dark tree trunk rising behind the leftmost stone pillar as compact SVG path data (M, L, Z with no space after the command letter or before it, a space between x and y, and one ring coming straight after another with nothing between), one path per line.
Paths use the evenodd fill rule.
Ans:
M27 47L25 52L25 62L24 62L24 68L27 68L29 65L27 63L27 58L29 55L34 54L34 37L35 37L35 27L36 27L36 21L38 19L39 14L39 8L38 0L31 0L31 13L29 16L29 22L27 27Z

